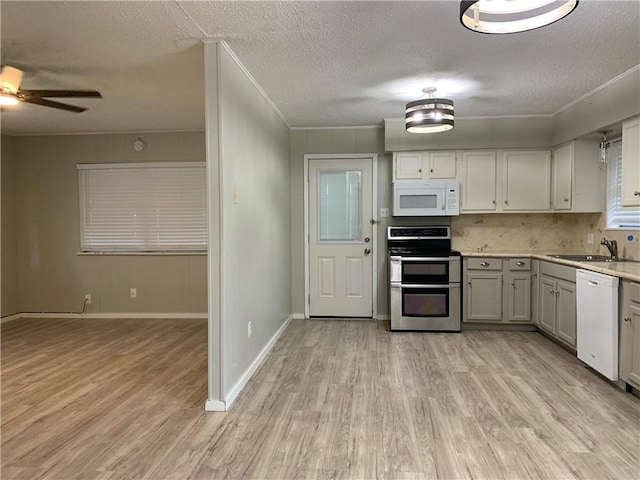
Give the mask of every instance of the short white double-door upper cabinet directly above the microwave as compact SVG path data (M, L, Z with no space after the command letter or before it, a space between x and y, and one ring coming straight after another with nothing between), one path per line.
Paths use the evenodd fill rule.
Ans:
M397 152L393 154L393 180L454 180L456 152Z

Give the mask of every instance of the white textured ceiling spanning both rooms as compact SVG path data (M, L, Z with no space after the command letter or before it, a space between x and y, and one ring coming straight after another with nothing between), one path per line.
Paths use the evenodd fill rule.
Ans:
M23 88L94 88L81 114L3 109L10 134L204 129L202 40L225 40L291 127L381 125L426 86L456 116L551 115L640 64L640 3L481 35L457 1L0 2Z

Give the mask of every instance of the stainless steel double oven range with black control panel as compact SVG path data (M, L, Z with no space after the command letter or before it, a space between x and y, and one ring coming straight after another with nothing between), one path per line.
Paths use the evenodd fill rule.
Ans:
M448 226L389 227L391 330L459 332L460 252Z

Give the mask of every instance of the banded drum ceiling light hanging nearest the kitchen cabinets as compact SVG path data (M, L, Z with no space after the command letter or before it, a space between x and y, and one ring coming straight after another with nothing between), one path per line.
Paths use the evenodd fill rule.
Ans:
M407 103L404 126L410 133L446 132L453 128L453 100L434 98L437 89L423 88L427 98Z

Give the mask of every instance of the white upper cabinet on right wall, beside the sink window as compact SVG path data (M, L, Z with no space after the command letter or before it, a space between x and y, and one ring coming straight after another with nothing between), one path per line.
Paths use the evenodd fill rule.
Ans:
M604 175L598 142L576 140L553 151L551 207L554 211L602 212Z

